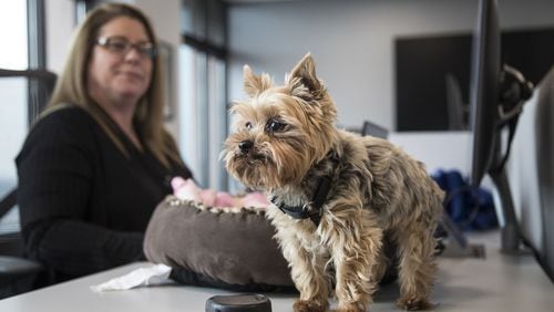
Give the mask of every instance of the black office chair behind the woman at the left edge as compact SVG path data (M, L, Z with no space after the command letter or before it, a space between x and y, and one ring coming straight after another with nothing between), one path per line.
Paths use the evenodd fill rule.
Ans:
M28 124L44 108L55 85L57 75L43 70L12 71L0 69L0 77L22 77L28 81ZM0 220L17 209L17 186L0 198ZM32 290L42 270L40 263L24 258L21 232L0 233L0 299Z

